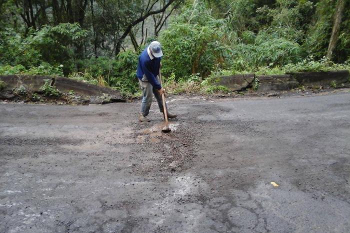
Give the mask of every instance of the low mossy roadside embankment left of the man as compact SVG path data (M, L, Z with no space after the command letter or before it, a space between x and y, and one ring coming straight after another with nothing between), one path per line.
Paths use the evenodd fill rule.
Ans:
M119 91L60 76L0 75L0 100L104 104L125 102Z

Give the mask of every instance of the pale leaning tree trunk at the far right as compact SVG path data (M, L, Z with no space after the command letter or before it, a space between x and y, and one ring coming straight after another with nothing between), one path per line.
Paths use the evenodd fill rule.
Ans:
M327 57L328 58L331 58L333 50L336 46L336 41L338 40L338 37L339 37L339 28L340 28L340 24L341 24L342 13L344 11L344 5L345 5L344 0L338 0L336 3L336 9L335 9L336 11L335 11L335 16L334 16L332 34L330 36L328 50L327 50Z

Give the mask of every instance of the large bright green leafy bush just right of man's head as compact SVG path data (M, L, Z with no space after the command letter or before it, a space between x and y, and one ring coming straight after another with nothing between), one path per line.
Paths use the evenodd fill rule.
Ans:
M229 52L225 24L225 20L212 17L202 3L185 9L161 32L163 73L174 73L177 78L192 73L206 76L214 65L224 65Z

